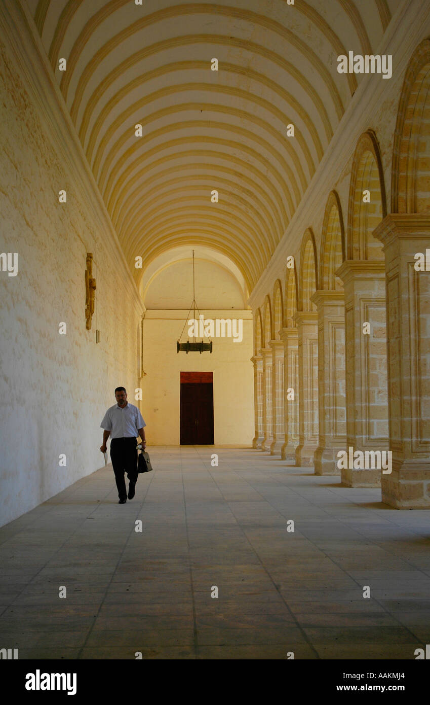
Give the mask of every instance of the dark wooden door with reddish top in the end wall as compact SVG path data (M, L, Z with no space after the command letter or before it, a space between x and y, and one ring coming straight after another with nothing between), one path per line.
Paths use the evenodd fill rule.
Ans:
M213 372L181 372L181 446L213 445Z

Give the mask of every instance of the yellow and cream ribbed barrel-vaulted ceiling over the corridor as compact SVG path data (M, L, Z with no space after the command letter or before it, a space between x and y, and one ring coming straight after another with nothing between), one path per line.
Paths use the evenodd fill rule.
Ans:
M252 290L362 80L337 56L376 54L399 2L27 0L136 278L186 243Z

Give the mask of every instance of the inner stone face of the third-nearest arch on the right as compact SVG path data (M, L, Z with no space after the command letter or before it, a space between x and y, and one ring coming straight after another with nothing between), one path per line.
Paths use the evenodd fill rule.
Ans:
M345 257L345 227L341 201L337 192L331 191L322 223L320 289L343 291L343 282L336 276L336 271L345 261Z

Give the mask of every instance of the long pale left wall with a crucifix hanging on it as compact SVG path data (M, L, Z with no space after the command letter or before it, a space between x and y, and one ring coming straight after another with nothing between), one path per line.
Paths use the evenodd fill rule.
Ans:
M18 253L17 276L0 272L4 525L104 465L99 426L115 403L113 390L139 386L143 306L99 195L84 171L70 167L67 123L60 123L58 140L49 106L42 109L1 34L0 105L0 250ZM58 123L58 116L52 119ZM65 204L58 201L61 189ZM85 326L87 252L94 255L97 287L91 331ZM61 322L66 335L58 332ZM59 466L61 453L67 467Z

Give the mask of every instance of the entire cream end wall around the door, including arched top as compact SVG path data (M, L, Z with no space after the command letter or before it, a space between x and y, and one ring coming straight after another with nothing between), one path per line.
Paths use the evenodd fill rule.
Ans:
M251 446L254 423L252 312L232 271L196 248L195 294L205 319L241 319L243 340L214 337L213 353L177 353L185 342L193 300L191 250L160 266L145 287L142 413L148 446L177 445L180 431L180 373L213 372L215 445ZM196 310L196 319L198 319ZM183 334L182 329L184 329ZM196 339L200 340L201 338ZM192 338L190 338L192 340ZM208 342L208 338L203 338Z

